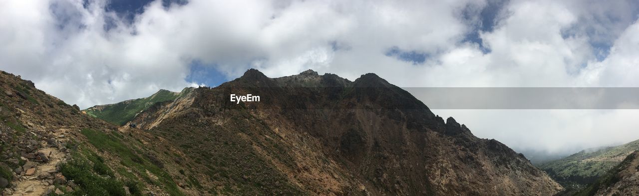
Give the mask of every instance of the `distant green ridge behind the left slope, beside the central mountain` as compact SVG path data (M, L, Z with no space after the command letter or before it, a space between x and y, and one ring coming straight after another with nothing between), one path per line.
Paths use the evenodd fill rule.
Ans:
M180 97L182 94L189 93L192 90L192 87L186 87L182 89L180 93L176 93L161 89L157 93L147 98L127 100L124 102L107 105L96 105L82 110L82 112L88 114L89 116L103 119L104 121L107 121L109 123L123 125L128 123L128 121L131 121L135 117L135 115L137 115L142 110L146 110L151 107L151 105L160 102L171 102Z

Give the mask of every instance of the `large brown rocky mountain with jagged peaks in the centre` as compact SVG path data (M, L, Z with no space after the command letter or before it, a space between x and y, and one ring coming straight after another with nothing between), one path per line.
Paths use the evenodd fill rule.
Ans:
M260 102L230 102L254 94ZM562 189L497 140L433 114L372 73L248 70L156 104L131 123L204 165L208 192L263 195L553 195ZM163 145L157 145L162 148ZM186 163L189 165L190 163Z

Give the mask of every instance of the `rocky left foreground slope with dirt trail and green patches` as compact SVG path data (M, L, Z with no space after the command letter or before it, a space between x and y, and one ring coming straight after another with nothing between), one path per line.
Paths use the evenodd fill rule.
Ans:
M196 195L144 132L81 113L33 82L0 73L2 195ZM173 170L175 169L175 170ZM184 188L183 188L184 187Z

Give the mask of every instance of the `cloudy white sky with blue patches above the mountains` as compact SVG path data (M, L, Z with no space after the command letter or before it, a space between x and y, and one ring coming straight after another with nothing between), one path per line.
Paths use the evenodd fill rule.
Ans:
M249 68L400 87L638 87L638 15L639 0L0 1L0 70L83 109ZM639 139L636 110L433 111L518 151Z

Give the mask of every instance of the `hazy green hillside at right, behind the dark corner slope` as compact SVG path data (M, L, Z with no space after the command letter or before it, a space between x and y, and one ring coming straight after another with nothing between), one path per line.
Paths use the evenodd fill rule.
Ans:
M639 149L639 140L616 147L585 149L579 153L537 165L565 187L580 190L594 183L624 158Z

